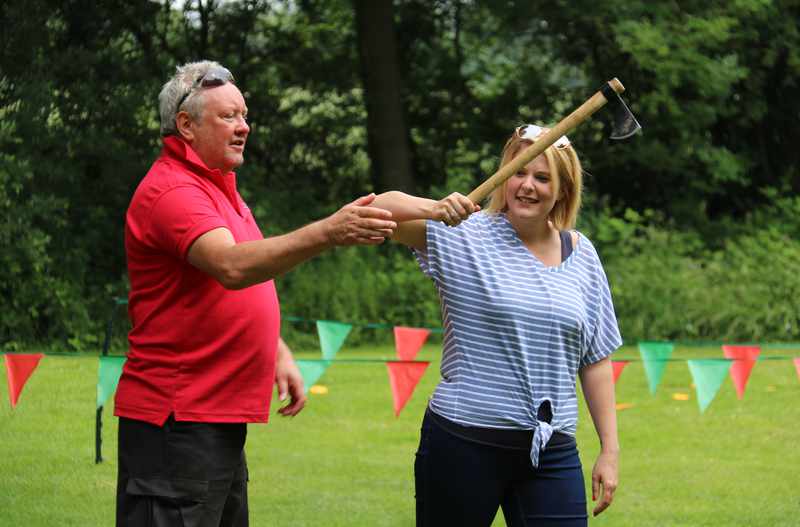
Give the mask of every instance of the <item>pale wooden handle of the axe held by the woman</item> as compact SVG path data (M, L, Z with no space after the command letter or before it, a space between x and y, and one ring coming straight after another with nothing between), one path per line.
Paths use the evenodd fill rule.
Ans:
M617 93L625 91L625 86L614 77L608 84ZM500 170L492 174L486 181L481 183L467 196L473 203L480 203L492 193L492 191L503 184L512 174L516 174L519 169L530 163L539 154L547 150L547 147L558 141L562 135L567 135L579 124L588 119L594 112L603 107L608 100L602 91L592 95L585 103L581 104L574 112L564 117L557 125L539 136L538 140L531 146L523 150Z

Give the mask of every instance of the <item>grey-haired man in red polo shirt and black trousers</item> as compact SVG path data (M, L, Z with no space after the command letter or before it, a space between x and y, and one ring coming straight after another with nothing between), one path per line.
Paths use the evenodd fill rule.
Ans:
M118 526L245 526L249 422L305 404L279 336L272 279L337 245L378 244L395 223L365 196L264 239L236 190L247 106L216 62L179 67L159 94L164 148L125 222L130 349L119 416Z

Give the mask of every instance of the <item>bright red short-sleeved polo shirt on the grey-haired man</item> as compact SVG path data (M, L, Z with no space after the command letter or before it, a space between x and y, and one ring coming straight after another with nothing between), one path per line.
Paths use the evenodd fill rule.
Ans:
M266 422L275 381L280 311L270 280L225 289L186 260L225 227L237 242L263 236L233 172L209 170L176 137L139 184L125 221L130 296L128 360L115 415L178 421Z

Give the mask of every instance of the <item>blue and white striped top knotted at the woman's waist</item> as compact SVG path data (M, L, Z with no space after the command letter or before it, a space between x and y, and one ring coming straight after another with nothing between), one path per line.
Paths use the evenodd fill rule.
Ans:
M466 426L534 430L531 460L553 431L574 435L581 366L622 344L608 280L591 242L546 267L505 214L473 214L458 227L427 222L416 251L441 298L444 350L430 408ZM551 423L537 419L549 400Z

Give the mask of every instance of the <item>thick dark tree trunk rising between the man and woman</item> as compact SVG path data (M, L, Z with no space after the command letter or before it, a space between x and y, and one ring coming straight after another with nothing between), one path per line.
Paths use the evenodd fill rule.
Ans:
M367 148L377 191L414 192L392 0L353 0L367 105Z

